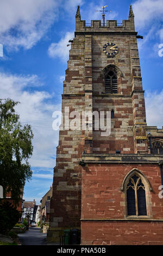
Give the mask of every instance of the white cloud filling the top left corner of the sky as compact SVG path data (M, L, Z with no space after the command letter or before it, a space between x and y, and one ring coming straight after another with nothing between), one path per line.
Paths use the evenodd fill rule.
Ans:
M18 26L21 30L29 30L34 27L50 8L56 7L53 0L7 0L1 1L0 9L0 32L8 31Z

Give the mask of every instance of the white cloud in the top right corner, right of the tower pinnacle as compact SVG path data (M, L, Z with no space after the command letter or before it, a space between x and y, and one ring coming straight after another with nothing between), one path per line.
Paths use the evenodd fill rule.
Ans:
M162 0L137 0L132 5L137 28L148 27L155 20L162 20Z

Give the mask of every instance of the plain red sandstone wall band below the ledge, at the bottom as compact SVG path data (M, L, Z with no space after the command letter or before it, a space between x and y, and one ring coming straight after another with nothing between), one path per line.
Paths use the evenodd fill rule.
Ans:
M163 222L82 222L82 245L163 245Z

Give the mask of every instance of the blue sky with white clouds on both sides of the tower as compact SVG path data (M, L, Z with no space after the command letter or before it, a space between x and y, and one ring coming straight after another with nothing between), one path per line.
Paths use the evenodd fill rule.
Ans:
M96 10L102 5L111 10L106 20L120 23L128 19L129 5L133 5L135 29L143 35L138 44L147 124L163 125L162 0L102 0L100 4L97 0L1 0L0 95L20 101L16 110L22 123L32 125L34 153L29 162L33 178L26 183L23 198L35 199L37 204L53 182L58 131L52 129L52 114L61 109L62 81L71 47L67 44L74 36L78 4L86 23L101 19Z

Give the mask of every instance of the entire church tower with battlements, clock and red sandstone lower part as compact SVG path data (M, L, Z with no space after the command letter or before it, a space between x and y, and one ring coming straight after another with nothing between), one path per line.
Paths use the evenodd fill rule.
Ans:
M146 123L134 13L104 19L87 26L77 9L47 237L81 227L84 245L163 244L163 129Z

